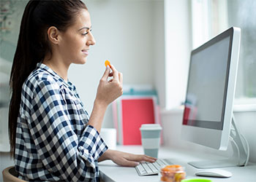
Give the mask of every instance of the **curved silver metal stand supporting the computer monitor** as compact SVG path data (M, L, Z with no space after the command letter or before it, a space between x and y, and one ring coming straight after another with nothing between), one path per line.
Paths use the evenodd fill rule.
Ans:
M188 162L188 164L197 168L202 168L202 169L246 166L249 159L249 144L246 141L246 138L244 138L244 136L240 134L238 127L236 127L234 115L232 116L232 127L230 130L230 142L233 148L232 157L230 157L229 159L222 159L222 160Z

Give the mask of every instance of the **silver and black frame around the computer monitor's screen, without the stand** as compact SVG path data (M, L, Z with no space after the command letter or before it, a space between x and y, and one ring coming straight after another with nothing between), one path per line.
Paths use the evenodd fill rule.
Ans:
M191 55L195 52L209 47L211 44L225 39L227 36L230 36L230 45L229 45L229 55L228 55L228 66L225 80L225 100L223 100L224 109L222 109L222 127L198 127L195 125L184 124L184 114L181 124L181 138L192 141L193 143L198 143L203 146L208 146L214 149L225 150L228 145L228 138L230 135L230 124L233 114L233 98L235 95L236 88L236 75L238 69L238 55L240 50L240 28L232 27L215 36L213 39L207 41L202 46L198 47L195 50L192 50ZM189 63L189 74L190 74L190 64ZM189 79L188 84L189 85ZM187 98L187 95L186 95ZM216 124L216 122L214 122Z

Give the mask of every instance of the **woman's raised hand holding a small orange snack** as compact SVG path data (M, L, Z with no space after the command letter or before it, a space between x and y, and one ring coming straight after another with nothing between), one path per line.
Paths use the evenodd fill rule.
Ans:
M110 67L113 71L112 73L110 73ZM123 74L118 72L113 65L110 67L106 67L105 73L99 81L95 99L95 102L103 106L108 106L123 94ZM113 79L108 81L109 76L113 76Z

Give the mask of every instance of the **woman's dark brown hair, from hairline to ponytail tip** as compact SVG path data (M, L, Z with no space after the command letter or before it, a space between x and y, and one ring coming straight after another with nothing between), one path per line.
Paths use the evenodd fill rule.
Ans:
M66 31L75 22L81 9L87 7L80 0L30 0L26 5L10 75L12 97L9 106L9 135L13 157L23 82L45 55L52 54L48 42L48 28L55 26L59 31Z

